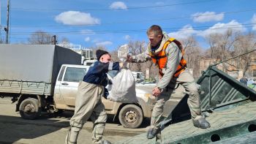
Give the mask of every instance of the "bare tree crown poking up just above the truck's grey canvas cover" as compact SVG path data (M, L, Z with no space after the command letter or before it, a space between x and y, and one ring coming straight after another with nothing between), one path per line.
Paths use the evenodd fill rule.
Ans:
M29 37L30 44L49 45L52 44L52 36L44 31L36 31Z

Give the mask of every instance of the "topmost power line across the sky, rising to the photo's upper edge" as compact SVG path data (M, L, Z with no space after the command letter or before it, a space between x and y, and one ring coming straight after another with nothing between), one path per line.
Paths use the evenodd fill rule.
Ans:
M114 9L114 10L140 10L140 9L148 9L148 8L157 8L157 7L173 7L178 5L187 5L187 4L199 4L205 3L209 1L217 1L217 0L206 0L206 1L191 1L186 3L178 3L178 4L165 4L158 6L146 6L146 7L128 7L127 9ZM34 10L34 11L50 11L50 9L33 9L33 8L22 8L22 7L12 7L13 10ZM108 11L111 9L83 9L83 11ZM66 11L64 9L51 9L51 11Z

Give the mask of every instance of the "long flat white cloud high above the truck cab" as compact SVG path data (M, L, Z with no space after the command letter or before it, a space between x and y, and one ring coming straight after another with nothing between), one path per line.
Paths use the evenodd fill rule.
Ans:
M100 23L100 20L91 17L90 13L78 11L61 12L55 17L55 20L65 25L95 25Z

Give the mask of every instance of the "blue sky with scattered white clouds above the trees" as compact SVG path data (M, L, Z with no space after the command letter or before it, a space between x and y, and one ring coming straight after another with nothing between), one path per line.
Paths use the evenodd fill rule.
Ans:
M7 0L1 1L5 39ZM148 42L146 30L162 27L170 37L195 36L203 48L211 33L256 31L253 0L10 0L10 43L27 43L35 31L69 39L83 48L116 50L129 41Z

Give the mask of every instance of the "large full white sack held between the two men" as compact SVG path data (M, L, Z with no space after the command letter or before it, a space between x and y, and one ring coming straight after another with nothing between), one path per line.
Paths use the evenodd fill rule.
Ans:
M112 83L113 86L108 99L122 103L138 102L135 91L135 78L131 70L121 69L116 77L113 77Z

